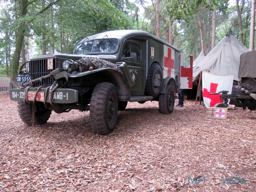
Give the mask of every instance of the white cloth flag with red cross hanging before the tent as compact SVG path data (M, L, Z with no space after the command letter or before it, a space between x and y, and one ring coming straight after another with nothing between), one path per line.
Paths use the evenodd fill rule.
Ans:
M203 98L206 108L213 107L215 104L220 103L220 95L210 95L210 93L216 93L220 91L229 91L231 94L233 86L233 75L220 76L211 75L209 72L203 71L202 86L203 86Z

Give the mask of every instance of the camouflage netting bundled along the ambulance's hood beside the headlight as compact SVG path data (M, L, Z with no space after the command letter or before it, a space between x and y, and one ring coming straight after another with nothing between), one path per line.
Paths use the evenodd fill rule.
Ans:
M80 58L80 60L77 61L79 63L79 69L80 71L89 71L90 67L92 67L94 70L97 68L115 68L121 75L123 75L122 71L118 66L116 66L114 63L111 63L110 61L101 60L99 58Z

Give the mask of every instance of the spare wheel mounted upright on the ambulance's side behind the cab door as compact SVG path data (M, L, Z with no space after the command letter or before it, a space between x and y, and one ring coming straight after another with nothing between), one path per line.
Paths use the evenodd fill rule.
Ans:
M161 91L163 75L160 65L152 63L147 75L145 94L157 97Z

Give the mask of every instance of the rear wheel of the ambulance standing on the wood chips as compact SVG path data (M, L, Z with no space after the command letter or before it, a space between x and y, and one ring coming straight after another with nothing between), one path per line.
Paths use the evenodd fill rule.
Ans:
M159 110L161 114L170 114L174 108L174 90L168 85L164 94L159 95Z

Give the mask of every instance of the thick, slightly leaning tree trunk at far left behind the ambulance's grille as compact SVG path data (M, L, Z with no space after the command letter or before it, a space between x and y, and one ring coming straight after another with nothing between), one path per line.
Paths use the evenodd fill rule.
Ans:
M22 18L26 16L27 14L27 3L28 0L22 0L21 1L21 7L20 7L20 14L19 18ZM17 38L16 38L16 45L15 45L15 51L13 54L13 60L12 60L12 73L11 73L11 80L16 81L17 71L19 67L19 57L21 56L21 49L22 49L22 43L24 40L24 32L25 32L25 26L26 22L23 21L18 28L17 31Z

